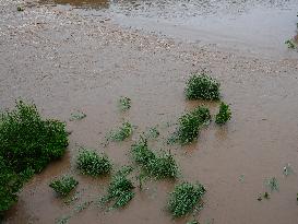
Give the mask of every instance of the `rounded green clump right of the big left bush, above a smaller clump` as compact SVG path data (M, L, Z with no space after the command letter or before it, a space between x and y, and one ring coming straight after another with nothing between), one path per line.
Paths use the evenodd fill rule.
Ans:
M76 166L84 175L100 176L111 170L111 162L106 155L99 155L91 150L83 150L76 160Z

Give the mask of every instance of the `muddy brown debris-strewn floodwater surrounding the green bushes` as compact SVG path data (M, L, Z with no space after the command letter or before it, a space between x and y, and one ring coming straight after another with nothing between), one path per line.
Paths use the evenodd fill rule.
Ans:
M205 2L207 5L210 2L219 4L219 1ZM263 1L241 2L239 5L247 7L233 9L235 16L253 10L253 5L283 11L295 3L274 1L271 7L269 3L260 3ZM129 9L130 4L122 3L123 8L120 7L121 2L102 2L99 8L105 8L103 11L86 12L73 7L0 0L1 109L12 107L20 97L34 101L41 108L43 115L65 120L68 129L72 131L67 155L50 164L24 187L17 204L7 213L5 223L47 224L63 217L74 224L182 224L191 220L192 216L172 220L167 213L167 193L175 185L170 181L147 181L143 191L135 189L135 198L120 211L105 212L93 203L80 210L82 203L102 196L109 181L109 178L90 179L76 172L74 160L80 146L105 151L119 167L131 162L129 149L139 134L147 127L158 125L163 134L156 141L151 141L150 145L171 149L181 169L182 176L178 181L199 180L207 189L204 209L194 214L200 223L296 224L297 52L283 48L284 54L278 55L282 46L285 47L283 43L273 47L273 56L278 57L267 57L265 50L257 55L243 48L233 48L228 43L214 45L215 37L211 38L212 45L201 44L203 40L186 42L179 38L184 33L179 30L180 26L174 38L165 36L167 33L150 33L147 31L151 27L147 25L145 31L124 28L123 24L135 23L139 16L152 15L152 20L156 20L156 16L150 7L143 11L129 11L124 9ZM24 12L16 11L19 4L24 5ZM140 4L144 5L142 2ZM156 7L158 3L153 1L152 4L153 9L159 9ZM224 1L224 9L227 4ZM75 5L82 8L81 3L74 4ZM98 4L87 2L84 5L98 9ZM160 8L159 12L165 13L158 20L168 16L169 23L175 24L180 11L177 10L177 17L169 16L172 10L170 4L166 5ZM193 7L191 11L198 11L195 9ZM206 9L216 12L217 8ZM293 7L286 12L291 14ZM133 16L136 19L133 20ZM200 16L206 20L214 16L214 12L198 12L193 20L199 21ZM295 16L289 21L297 21ZM192 20L191 16L186 17L180 20L181 23ZM151 23L148 19L145 20L146 24ZM272 20L277 21L276 17ZM220 23L224 24L224 21ZM283 23L279 27L288 33L276 33L276 39L281 38L279 34L295 35L295 24L284 24L283 20L279 22ZM249 25L253 27L253 24ZM247 35L250 36L249 33ZM203 36L200 38L203 39ZM238 40L230 42L237 44ZM258 48L257 44L252 47ZM211 123L201 131L198 142L192 145L169 146L163 138L170 132L166 123L175 122L186 109L203 104L187 102L183 95L184 81L190 72L202 68L211 70L213 76L220 81L223 99L231 105L233 119L222 128ZM117 109L117 99L121 95L132 99L132 108L126 114ZM216 114L218 104L207 106L212 114ZM70 114L76 110L85 113L87 117L80 121L69 121ZM104 148L102 143L106 133L123 119L138 126L132 139ZM283 167L288 163L295 173L286 177ZM73 174L80 181L79 199L70 204L57 199L48 187L52 178L65 173ZM258 201L259 194L269 190L265 180L272 177L278 179L279 192L271 193L269 200Z

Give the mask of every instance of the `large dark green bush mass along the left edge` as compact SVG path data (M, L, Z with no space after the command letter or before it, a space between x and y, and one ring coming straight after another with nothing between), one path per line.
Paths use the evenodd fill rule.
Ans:
M16 102L0 115L0 213L17 200L17 192L34 173L60 158L68 145L65 125L44 120L35 105Z

